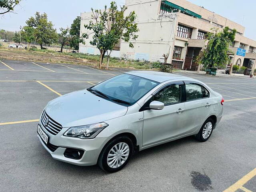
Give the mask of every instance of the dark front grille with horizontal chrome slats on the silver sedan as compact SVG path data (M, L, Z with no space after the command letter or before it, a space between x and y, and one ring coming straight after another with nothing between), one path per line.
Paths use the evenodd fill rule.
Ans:
M46 121L48 123L46 123ZM54 121L52 118L50 118L50 116L48 116L45 110L41 117L41 124L50 134L53 134L53 135L58 134L58 132L62 130L62 125Z

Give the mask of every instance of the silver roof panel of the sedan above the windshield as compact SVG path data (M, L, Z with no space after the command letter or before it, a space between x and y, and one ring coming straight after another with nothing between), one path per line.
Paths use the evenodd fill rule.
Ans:
M136 75L136 76L150 79L150 80L160 82L160 83L162 83L164 81L168 81L168 80L198 81L193 78L186 77L186 76L173 74L173 73L159 72L159 71L130 71L130 72L126 72L126 74Z

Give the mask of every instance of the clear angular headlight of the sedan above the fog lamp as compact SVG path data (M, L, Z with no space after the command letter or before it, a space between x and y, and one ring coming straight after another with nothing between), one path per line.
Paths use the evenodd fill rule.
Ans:
M68 137L77 137L80 139L92 139L107 126L108 124L102 122L78 127L70 127L63 135Z

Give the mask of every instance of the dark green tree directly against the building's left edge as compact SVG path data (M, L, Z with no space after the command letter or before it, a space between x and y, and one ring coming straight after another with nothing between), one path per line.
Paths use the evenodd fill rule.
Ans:
M76 17L76 19L71 24L70 28L70 46L74 50L79 50L79 40L80 40L80 24L81 24L81 17Z

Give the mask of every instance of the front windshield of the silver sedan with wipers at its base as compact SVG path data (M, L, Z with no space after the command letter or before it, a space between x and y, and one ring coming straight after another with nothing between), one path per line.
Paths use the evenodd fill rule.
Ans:
M158 84L139 76L120 74L87 90L112 102L130 106Z

